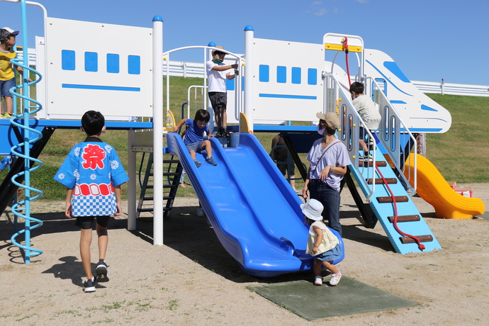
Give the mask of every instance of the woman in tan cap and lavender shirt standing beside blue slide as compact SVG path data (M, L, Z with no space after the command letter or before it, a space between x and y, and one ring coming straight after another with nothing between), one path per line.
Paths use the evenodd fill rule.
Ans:
M302 189L302 196L317 199L325 207L322 215L328 225L342 235L339 223L339 190L347 165L351 164L347 147L335 137L339 118L335 113L317 113L317 133L324 137L316 140L309 150L310 167Z

